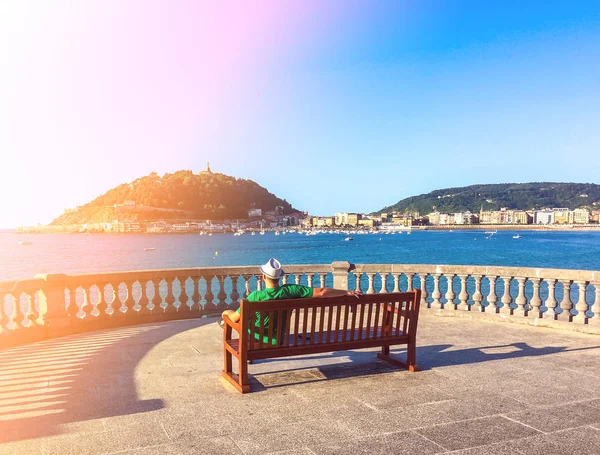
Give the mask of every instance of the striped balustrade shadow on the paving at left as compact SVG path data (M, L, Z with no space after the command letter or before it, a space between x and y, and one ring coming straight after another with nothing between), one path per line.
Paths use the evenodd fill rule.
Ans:
M0 443L61 434L65 424L163 408L160 399L138 399L137 364L160 342L208 323L138 325L0 352ZM99 431L102 425L98 421Z

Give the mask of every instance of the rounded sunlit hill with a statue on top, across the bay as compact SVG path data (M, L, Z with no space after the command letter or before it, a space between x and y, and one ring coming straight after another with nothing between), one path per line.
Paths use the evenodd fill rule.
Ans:
M117 215L115 204L125 201L136 203L136 208L127 216L140 221L247 218L249 209L264 212L275 210L277 206L283 207L284 214L295 210L285 199L269 193L252 180L212 172L177 171L162 177L153 172L107 191L90 203L64 213L51 224L112 221Z

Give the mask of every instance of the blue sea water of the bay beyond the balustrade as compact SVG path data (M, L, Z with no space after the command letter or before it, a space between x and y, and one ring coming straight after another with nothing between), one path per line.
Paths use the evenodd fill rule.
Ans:
M514 239L519 233L522 238ZM256 265L269 257L284 264L470 264L600 270L600 232L413 231L410 235L276 236L233 234L106 235L0 233L0 281L39 273ZM28 240L30 245L19 245ZM145 248L154 248L145 251Z

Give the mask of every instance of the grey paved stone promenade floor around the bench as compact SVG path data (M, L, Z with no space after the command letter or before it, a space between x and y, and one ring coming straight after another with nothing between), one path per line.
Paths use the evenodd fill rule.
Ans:
M425 313L420 373L261 361L240 395L214 321L0 352L0 454L600 454L599 336Z

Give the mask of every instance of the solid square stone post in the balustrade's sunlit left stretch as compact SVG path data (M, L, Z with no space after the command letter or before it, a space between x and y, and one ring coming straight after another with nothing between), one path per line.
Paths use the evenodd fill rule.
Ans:
M65 310L65 287L67 275L36 275L46 283L39 293L40 314L44 316L46 336L54 337L68 331L73 323L72 317ZM74 316L73 316L74 317Z

